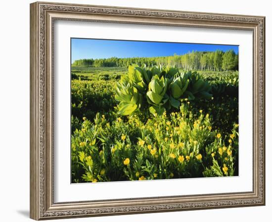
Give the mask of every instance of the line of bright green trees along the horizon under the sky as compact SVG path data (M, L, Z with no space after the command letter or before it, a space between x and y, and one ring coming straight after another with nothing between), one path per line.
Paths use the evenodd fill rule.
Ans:
M238 54L230 49L226 52L192 51L183 55L161 57L134 57L134 58L107 58L107 59L80 59L75 60L72 67L128 67L131 64L139 66L146 64L171 65L187 70L229 71L238 70Z

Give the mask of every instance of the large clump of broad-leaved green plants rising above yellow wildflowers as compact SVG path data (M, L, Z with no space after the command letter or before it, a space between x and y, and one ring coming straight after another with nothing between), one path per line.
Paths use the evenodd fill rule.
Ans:
M181 99L209 99L211 86L196 72L180 73L170 66L139 67L131 65L128 74L116 84L115 99L121 115L131 115L141 107L161 115L172 107L178 109Z

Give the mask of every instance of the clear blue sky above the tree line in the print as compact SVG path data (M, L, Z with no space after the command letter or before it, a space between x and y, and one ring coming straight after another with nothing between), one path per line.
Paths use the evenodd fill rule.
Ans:
M237 45L215 45L176 42L126 41L71 38L72 63L78 59L157 57L178 55L191 51L227 51L238 53Z

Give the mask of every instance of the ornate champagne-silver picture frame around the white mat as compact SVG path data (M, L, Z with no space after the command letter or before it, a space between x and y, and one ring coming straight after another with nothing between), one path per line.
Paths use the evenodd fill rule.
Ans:
M58 20L251 31L252 191L56 202L54 23ZM265 205L265 17L35 2L30 4L30 218L95 217Z

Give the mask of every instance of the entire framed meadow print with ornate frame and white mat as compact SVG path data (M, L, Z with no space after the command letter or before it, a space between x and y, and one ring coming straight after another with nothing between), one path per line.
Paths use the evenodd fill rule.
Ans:
M30 4L30 217L265 205L265 17Z

